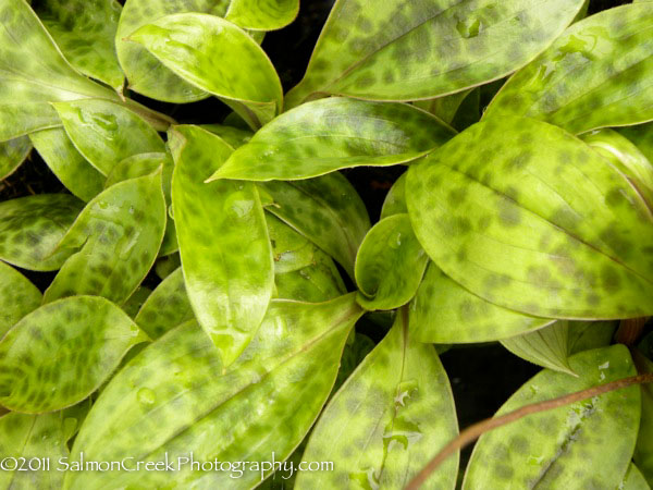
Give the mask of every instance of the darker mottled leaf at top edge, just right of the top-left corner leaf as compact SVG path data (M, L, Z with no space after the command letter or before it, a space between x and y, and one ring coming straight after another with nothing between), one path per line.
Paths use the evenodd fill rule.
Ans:
M75 69L122 91L113 45L121 9L115 0L45 0L36 13Z

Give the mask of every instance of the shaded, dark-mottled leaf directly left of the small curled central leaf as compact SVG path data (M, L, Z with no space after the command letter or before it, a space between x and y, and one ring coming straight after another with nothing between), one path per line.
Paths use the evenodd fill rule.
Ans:
M259 184L274 203L266 209L285 221L354 278L356 252L370 229L365 204L342 174Z

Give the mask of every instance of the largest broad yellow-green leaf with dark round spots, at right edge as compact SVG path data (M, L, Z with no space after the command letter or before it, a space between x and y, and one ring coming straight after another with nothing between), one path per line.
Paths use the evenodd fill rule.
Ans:
M653 313L650 210L624 174L558 127L475 124L410 167L406 196L431 259L489 302L551 318Z

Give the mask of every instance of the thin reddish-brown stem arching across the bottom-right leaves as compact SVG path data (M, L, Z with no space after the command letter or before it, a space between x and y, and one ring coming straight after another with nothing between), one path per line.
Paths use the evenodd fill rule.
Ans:
M599 387L592 387L587 390L570 393L568 395L559 396L553 400L545 400L544 402L532 403L525 405L516 411L500 417L488 418L480 422L477 422L445 445L440 453L435 455L428 464L419 471L412 480L406 487L406 490L416 490L431 476L431 474L454 452L465 448L467 444L476 441L483 433L494 430L498 427L512 424L526 417L527 415L537 414L540 412L546 412L560 406L570 405L571 403L580 402L581 400L591 399L609 391L620 390L621 388L630 387L633 384L651 383L653 382L653 373L644 373L633 376L630 378L624 378L609 383L601 384Z

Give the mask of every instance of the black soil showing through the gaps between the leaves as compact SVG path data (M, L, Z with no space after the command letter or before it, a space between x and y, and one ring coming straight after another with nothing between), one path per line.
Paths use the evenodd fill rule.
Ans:
M373 4L370 0L370 3ZM410 0L406 0L410 1ZM269 33L262 47L271 58L280 74L285 90L301 79L312 48L320 35L333 0L304 0L297 20L288 27ZM630 3L625 0L591 0L589 13L612 7ZM132 94L140 102L169 113L184 123L214 123L229 113L218 99L211 98L188 105L169 105ZM379 219L381 205L393 182L404 168L360 168L345 171L345 175L356 187L366 203L372 222ZM30 194L61 193L66 189L50 172L36 151L19 171L0 182L0 201ZM54 273L23 271L37 286L45 290ZM149 281L153 286L156 279ZM382 332L371 332L370 324L364 328L371 336L382 336ZM381 333L381 334L380 334ZM521 384L540 370L507 352L497 343L454 347L441 356L449 376L460 428L491 417L496 409ZM468 460L471 449L463 452L461 466Z

